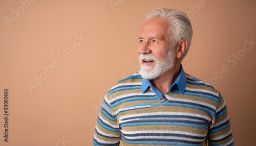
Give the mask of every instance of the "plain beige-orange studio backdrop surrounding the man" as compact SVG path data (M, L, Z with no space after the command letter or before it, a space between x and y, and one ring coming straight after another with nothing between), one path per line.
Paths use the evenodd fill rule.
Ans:
M253 0L0 1L0 145L92 145L101 100L139 70L137 38L159 7L189 15L194 36L184 70L221 91L236 145L255 145L256 44L245 41L256 42ZM35 85L35 76L44 80Z

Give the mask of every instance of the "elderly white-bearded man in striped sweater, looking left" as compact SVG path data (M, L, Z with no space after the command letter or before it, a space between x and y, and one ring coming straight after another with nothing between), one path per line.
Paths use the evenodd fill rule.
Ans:
M139 36L140 71L105 95L94 145L234 145L220 92L182 68L192 35L179 10L147 15Z

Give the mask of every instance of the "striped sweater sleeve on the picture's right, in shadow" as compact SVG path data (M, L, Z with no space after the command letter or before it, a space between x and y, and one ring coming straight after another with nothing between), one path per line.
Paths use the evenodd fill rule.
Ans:
M216 106L215 120L208 131L208 145L234 145L227 107L222 95Z

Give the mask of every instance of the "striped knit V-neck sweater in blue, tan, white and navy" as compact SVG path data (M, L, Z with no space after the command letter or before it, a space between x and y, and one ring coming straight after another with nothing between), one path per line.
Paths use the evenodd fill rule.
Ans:
M225 102L219 91L188 74L178 87L157 99L142 77L119 81L105 95L98 115L94 145L234 145Z

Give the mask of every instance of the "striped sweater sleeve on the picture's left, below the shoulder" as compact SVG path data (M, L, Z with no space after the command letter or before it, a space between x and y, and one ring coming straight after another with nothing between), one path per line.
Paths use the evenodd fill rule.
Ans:
M93 145L119 145L121 132L109 102L109 93L104 96L93 135Z

